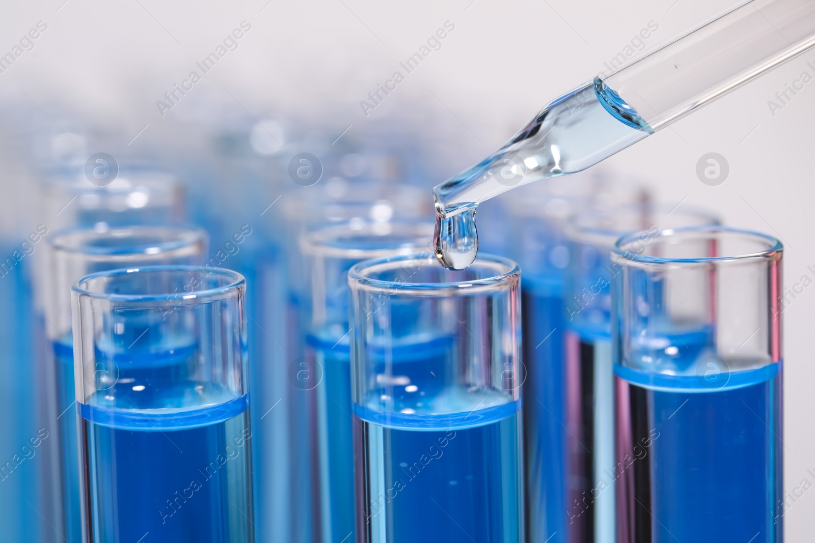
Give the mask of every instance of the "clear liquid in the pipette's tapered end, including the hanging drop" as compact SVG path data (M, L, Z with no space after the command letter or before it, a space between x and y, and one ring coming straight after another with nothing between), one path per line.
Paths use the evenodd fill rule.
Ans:
M436 187L436 258L448 269L473 263L475 212L483 200L577 173L649 134L648 123L599 78L548 104L495 154Z

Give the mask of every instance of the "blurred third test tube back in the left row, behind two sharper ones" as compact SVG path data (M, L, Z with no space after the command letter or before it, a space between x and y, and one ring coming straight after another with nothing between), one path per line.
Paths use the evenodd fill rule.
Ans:
M82 277L83 269L73 269L74 273L70 276L60 275L63 272L69 273L70 270L58 268L53 239L59 235L60 231L64 232L71 228L96 229L95 233L88 234L88 239L95 236L100 239L104 239L105 236L115 239L111 230L117 230L119 226L145 225L146 228L154 230L153 241L164 239L166 243L170 241L167 237L169 234L161 231L161 225L178 223L183 217L184 190L176 177L151 169L124 165L121 167L117 165L115 169L111 169L112 165L112 163L108 164L105 172L107 178L94 177L91 174L91 177L99 184L90 182L84 164L64 166L42 174L44 179L41 183L42 198L39 202L38 215L48 235L46 243L42 243L42 251L37 253L33 261L32 270L33 282L36 286L33 302L37 304L38 308L35 313L37 324L34 326L38 338L36 343L47 345L47 347L37 353L37 367L42 375L37 398L40 403L42 424L46 429L55 429L52 434L55 439L51 442L50 447L43 451L46 453L43 460L47 462L43 462L45 465L43 468L47 469L48 483L44 488L45 497L41 513L47 522L52 523L55 527L64 527L59 532L68 537L69 541L78 538L79 498L78 483L74 477L78 471L65 463L76 460L75 453L73 453L76 448L71 447L68 453L71 453L72 457L65 458L61 453L64 445L60 444L62 439L60 436L68 439L69 443L75 444L73 434L75 425L73 424L73 411L69 410L62 416L60 414L68 405L73 404L73 396L70 394L60 396L58 391L62 386L73 388L73 379L59 379L59 373L55 372L59 369L55 361L58 351L53 345L59 344L60 338L68 338L67 347L59 352L64 353L64 358L73 363L73 350L69 342L69 296L65 289L69 289L71 282ZM126 231L126 229L117 230L119 235ZM148 239L130 239L130 242L136 244L147 241ZM128 241L124 240L122 245L126 246L127 243ZM95 247L95 249L91 247L91 250L97 250L99 254L103 254L104 243L103 247ZM112 253L116 252L112 247L109 247L108 250ZM198 251L200 260L205 248L199 247ZM76 254L81 255L81 252L80 248ZM89 261L93 261L94 258L88 256ZM116 260L115 256L113 260ZM149 258L148 261L150 261ZM60 289L62 290L61 296ZM62 333L58 331L60 326L58 322L63 323L63 328L66 324L68 326ZM66 405L60 407L60 397L70 399L67 400ZM59 428L63 424L68 424L69 428L60 431ZM68 431L67 435L65 431ZM66 477L69 477L70 481ZM71 499L67 499L68 496ZM67 528L68 523L70 523L70 529ZM53 532L54 530L49 528L48 537L59 539L59 536Z

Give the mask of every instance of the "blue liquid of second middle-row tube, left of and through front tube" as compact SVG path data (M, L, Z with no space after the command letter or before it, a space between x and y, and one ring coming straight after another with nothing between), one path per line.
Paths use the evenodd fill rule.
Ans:
M323 370L323 386L319 387L318 425L320 498L323 541L355 541L354 511L354 408L351 402L350 345L348 336L335 338L309 335L307 343ZM445 348L450 341L439 338L430 341L410 341L390 350L395 371L410 363L428 369L443 364Z

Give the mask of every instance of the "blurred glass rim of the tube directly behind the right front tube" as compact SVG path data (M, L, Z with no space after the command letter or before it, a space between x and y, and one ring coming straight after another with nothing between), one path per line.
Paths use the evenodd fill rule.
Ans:
M597 222L590 222L590 219L597 219L597 217L631 217L637 213L653 214L657 216L671 216L676 212L675 217L686 217L690 219L698 219L699 221L707 221L698 226L720 226L721 221L715 211L694 205L672 205L666 202L632 202L630 204L623 204L612 208L593 208L587 209L582 212L577 212L566 221L568 226L567 235L572 241L579 243L588 243L594 246L613 247L618 239L634 232L640 233L643 228L614 228L601 226ZM694 228L696 226L676 226L670 229L661 228L659 222L654 222L649 227L655 226L658 230L657 233L663 230L679 230L681 228ZM652 233L651 235L655 235Z

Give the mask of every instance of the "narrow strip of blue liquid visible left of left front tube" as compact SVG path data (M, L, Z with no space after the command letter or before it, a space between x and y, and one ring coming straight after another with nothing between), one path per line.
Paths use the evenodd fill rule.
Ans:
M79 506L79 452L77 445L77 399L73 382L73 344L55 342L57 383L57 422L59 423L59 461L61 492L65 515L65 539L82 541L82 513Z

